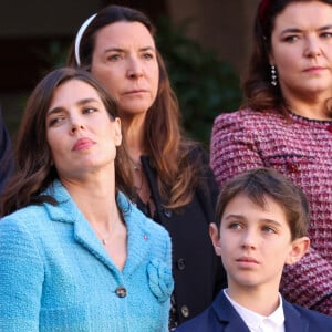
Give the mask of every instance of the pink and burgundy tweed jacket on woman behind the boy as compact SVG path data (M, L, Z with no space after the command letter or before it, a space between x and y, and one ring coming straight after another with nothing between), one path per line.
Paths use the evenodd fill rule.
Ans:
M311 208L311 249L286 267L287 300L332 315L332 121L242 110L214 123L210 165L217 183L255 167L272 167L305 193Z

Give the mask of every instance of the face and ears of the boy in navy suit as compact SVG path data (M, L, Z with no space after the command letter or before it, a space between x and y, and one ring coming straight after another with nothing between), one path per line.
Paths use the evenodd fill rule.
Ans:
M210 226L215 250L221 256L229 288L267 286L278 290L283 266L298 261L308 248L304 250L299 246L304 238L291 241L283 209L268 196L266 203L261 208L239 194L226 206L220 230L215 224Z

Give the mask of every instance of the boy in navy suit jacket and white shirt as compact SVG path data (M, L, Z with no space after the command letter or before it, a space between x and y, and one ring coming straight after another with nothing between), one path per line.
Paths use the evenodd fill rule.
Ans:
M331 332L332 317L291 304L279 293L284 264L307 252L309 208L303 193L272 169L246 172L222 188L210 225L228 288L177 332Z

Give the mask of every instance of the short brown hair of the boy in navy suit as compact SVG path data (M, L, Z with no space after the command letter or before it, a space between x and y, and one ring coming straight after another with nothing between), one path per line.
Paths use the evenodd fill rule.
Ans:
M238 195L246 195L261 208L267 206L267 197L270 197L283 209L291 239L307 235L310 219L308 200L298 186L277 170L253 168L228 180L217 201L216 224L218 227L227 205Z

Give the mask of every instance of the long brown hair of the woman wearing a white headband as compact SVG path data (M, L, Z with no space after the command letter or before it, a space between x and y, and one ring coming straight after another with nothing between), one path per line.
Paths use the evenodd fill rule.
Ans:
M87 20L89 24L84 31L80 29L68 64L90 70L97 32L105 25L121 21L139 22L153 38L155 35L154 25L143 12L122 6L108 6ZM199 180L199 163L189 156L197 143L183 136L178 102L158 51L157 63L158 92L146 115L144 149L157 172L162 197L169 208L177 208L193 199L195 186Z

